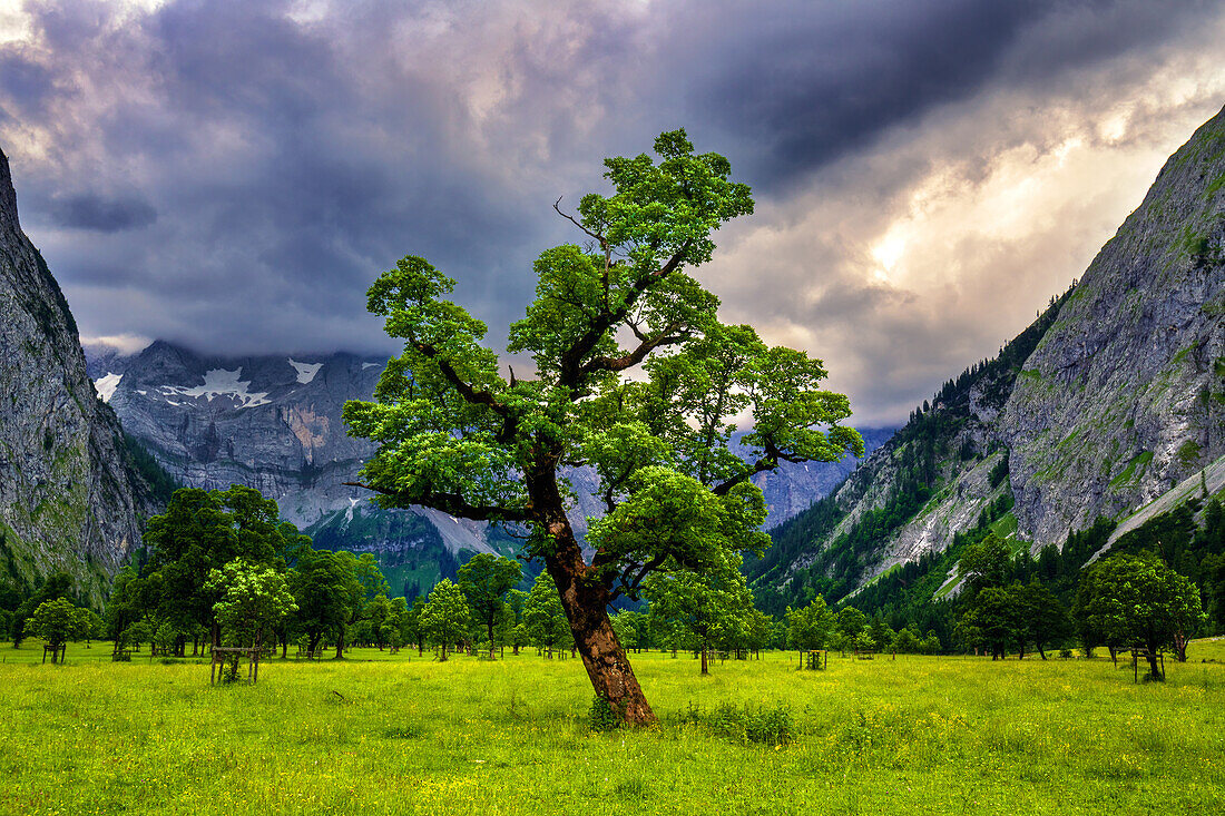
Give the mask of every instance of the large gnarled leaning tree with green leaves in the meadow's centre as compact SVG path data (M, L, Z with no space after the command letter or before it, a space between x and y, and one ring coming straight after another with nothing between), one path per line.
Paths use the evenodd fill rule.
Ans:
M556 583L597 695L631 723L655 717L609 603L655 570L720 570L761 551L753 474L864 450L839 425L846 398L821 388L821 361L719 322L718 299L688 274L720 224L752 212L748 187L685 131L654 147L658 162L606 159L611 195L584 196L577 214L559 201L586 245L539 256L535 300L506 344L530 355L535 379L503 375L485 325L446 299L454 282L409 256L369 290L403 354L374 402L344 412L379 446L361 475L383 506L529 528L526 555ZM748 461L729 448L740 417L752 424ZM599 474L606 510L589 560L566 516L562 468L577 466Z

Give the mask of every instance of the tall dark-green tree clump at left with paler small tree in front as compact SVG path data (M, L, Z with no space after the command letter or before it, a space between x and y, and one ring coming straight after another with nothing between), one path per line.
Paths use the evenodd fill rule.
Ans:
M148 521L143 549L115 577L107 636L116 652L148 641L167 654L202 644L266 647L326 638L387 646L407 611L369 554L315 550L257 490L185 488Z

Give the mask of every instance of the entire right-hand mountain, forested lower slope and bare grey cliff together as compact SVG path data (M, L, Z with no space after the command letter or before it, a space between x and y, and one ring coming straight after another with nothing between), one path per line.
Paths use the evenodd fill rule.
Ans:
M1079 282L748 565L775 605L843 598L990 526L1061 545L1225 453L1225 110L1161 169Z

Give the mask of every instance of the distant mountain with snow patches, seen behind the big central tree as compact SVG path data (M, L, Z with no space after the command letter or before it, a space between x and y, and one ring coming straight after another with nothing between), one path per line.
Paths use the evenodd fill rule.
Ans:
M219 358L164 341L127 357L105 346L87 352L102 398L174 478L205 489L257 488L317 546L375 554L396 592L415 594L453 577L473 553L512 554L518 546L485 523L435 510L377 508L368 491L343 484L374 447L345 435L341 412L347 399L370 398L386 360L343 353ZM864 431L869 450L889 433ZM800 512L853 467L848 457L760 474L768 523ZM578 496L576 529L583 532L584 517L601 511L599 485L587 469L568 478Z

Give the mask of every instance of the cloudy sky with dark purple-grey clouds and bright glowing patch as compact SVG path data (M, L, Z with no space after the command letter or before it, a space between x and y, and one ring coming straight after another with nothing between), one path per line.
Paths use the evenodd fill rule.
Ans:
M757 200L699 279L878 425L1079 276L1223 42L1191 0L0 0L0 147L83 338L388 353L379 272L501 342L552 201L684 126Z

